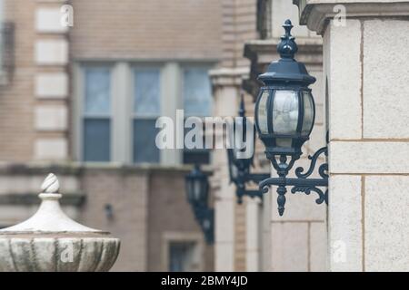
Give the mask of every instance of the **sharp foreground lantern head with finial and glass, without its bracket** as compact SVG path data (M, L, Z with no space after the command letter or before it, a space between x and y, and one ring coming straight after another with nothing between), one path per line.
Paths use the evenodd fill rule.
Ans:
M290 34L291 21L283 27L285 34L277 47L281 59L258 77L264 87L255 103L255 125L268 159L280 154L299 158L314 126L314 98L308 86L315 78L304 63L294 60L298 48Z

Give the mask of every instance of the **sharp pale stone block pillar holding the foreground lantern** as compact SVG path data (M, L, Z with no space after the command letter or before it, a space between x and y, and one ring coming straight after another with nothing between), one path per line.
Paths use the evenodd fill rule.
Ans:
M294 1L324 37L329 269L409 270L409 1Z

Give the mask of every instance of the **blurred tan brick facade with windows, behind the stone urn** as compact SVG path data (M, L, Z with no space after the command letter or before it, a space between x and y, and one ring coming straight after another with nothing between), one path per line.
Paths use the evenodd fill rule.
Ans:
M195 152L144 150L145 125L184 109L184 82L211 101L219 1L3 0L1 11L14 63L0 88L0 227L32 214L53 171L72 217L122 239L114 270L213 270L185 199ZM159 111L142 108L148 85Z

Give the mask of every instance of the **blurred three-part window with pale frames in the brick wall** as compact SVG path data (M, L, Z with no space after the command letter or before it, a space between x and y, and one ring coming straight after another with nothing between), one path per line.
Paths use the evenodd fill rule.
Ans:
M155 146L159 131L155 121L160 116L172 115L176 109L185 109L185 117L210 116L209 68L122 62L79 66L81 90L77 90L80 93L77 108L82 115L77 127L81 150L77 155L91 162L160 164L166 160L164 154L179 154L179 158L171 160L208 163L209 150L159 150Z

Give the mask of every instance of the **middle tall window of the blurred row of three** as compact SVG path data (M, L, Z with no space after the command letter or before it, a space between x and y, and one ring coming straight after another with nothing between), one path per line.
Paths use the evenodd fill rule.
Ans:
M158 130L155 122L161 116L160 71L154 68L134 70L133 156L135 163L159 163L155 145Z

